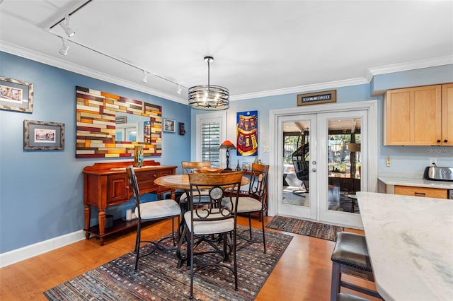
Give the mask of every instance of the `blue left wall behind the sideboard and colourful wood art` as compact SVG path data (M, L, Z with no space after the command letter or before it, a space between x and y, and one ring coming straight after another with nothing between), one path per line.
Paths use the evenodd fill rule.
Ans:
M0 75L28 81L35 88L33 114L0 110L0 253L84 228L81 170L113 159L75 158L76 85L161 105L163 117L184 122L187 134L164 132L163 155L151 160L178 167L190 160L189 152L180 151L190 149L187 105L5 52L0 52ZM24 119L64 123L64 151L23 151ZM108 213L116 217L122 209L117 206Z

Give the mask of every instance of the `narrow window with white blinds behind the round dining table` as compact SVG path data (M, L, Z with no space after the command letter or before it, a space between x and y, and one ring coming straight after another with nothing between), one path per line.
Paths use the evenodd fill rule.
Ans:
M212 167L220 167L220 123L201 124L201 160L210 161Z

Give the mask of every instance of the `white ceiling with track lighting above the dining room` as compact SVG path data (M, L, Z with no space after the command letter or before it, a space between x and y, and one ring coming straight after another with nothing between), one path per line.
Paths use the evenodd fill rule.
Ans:
M206 55L231 100L453 64L453 1L92 0L62 56L55 24L84 3L0 0L0 49L181 103L207 84Z

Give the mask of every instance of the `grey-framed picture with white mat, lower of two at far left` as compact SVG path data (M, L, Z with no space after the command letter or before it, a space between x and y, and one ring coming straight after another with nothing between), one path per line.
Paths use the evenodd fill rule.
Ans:
M64 150L64 124L24 120L23 149L25 151Z

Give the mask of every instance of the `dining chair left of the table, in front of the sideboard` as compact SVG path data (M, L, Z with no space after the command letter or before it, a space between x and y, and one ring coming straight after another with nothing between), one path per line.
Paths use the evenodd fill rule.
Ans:
M178 225L180 223L180 206L176 201L171 199L166 199L162 201L151 201L147 203L140 203L140 192L139 185L137 183L137 177L134 172L134 167L131 165L126 168L127 177L129 177L130 187L134 193L135 199L135 215L137 216L137 236L135 238L135 271L137 271L139 259L153 254L156 249L159 247L159 243L162 240L173 239L173 246L176 246L176 232L175 232L175 223L174 218L178 218ZM164 220L171 218L171 236L164 237L158 242L152 242L149 240L142 240L142 222L151 221L151 220ZM140 255L140 246L143 243L153 244L149 252L146 254Z

